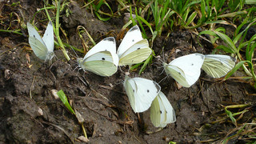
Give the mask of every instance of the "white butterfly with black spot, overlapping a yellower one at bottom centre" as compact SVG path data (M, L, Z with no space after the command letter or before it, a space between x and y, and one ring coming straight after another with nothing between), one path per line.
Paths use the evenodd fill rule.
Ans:
M128 76L126 76L123 86L135 113L148 110L161 90L157 82L145 78L129 78Z

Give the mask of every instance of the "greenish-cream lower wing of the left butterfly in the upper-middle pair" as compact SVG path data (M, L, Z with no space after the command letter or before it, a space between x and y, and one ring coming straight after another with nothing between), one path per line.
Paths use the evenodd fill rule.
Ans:
M83 70L88 70L103 77L111 76L118 70L110 51L92 54L86 59L78 60L78 64Z

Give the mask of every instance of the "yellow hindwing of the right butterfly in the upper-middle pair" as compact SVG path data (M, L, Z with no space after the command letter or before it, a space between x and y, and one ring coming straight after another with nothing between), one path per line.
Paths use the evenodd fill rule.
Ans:
M119 58L118 66L132 65L135 63L143 62L151 54L152 50L149 47L149 42L142 39L131 46Z

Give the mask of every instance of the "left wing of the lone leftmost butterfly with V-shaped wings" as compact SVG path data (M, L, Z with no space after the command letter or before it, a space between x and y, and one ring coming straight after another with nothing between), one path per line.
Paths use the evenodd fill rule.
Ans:
M32 48L32 50L34 51L34 54L42 59L42 60L46 60L46 56L47 56L47 47L45 42L42 41L42 38L40 37L40 35L38 34L38 31L34 29L34 26L32 26L29 22L27 22L27 29L29 31L29 43L30 46Z

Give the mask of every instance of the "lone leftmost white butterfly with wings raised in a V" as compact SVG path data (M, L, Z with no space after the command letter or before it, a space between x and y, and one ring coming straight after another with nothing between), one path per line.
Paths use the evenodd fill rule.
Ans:
M54 58L54 29L51 22L48 23L45 34L41 38L38 31L34 29L29 22L27 22L27 29L29 31L29 43L34 51L34 54L45 61Z

